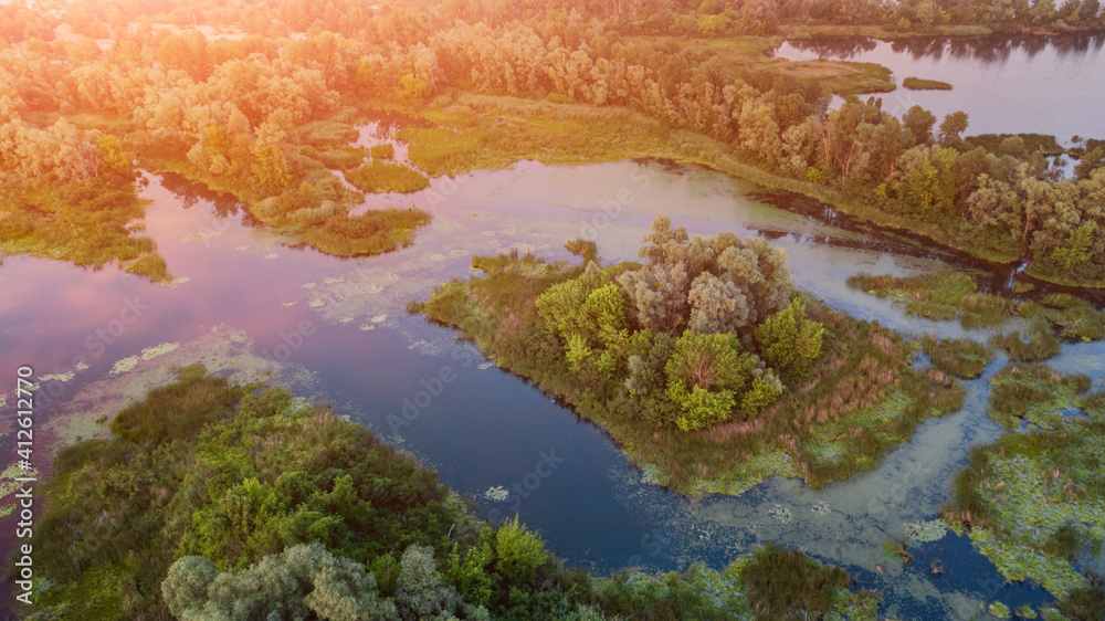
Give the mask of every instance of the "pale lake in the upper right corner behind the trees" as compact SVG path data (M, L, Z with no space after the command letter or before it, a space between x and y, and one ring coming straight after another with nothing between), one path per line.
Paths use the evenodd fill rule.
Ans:
M964 110L967 135L1046 134L1066 146L1073 136L1105 138L1105 33L1055 36L988 35L878 41L815 38L786 41L775 55L878 63L898 85L883 109L902 116L914 105L936 115ZM906 77L937 80L951 91L909 91ZM866 98L866 95L862 96ZM840 105L836 97L833 107Z

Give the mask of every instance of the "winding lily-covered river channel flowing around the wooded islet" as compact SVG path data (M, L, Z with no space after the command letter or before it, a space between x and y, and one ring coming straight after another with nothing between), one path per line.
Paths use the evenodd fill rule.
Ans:
M694 561L722 567L756 543L778 540L843 565L861 587L880 589L887 615L966 618L996 599L1011 608L1050 600L1031 585L1002 585L969 540L951 534L912 545L924 560L906 568L883 551L886 539L905 534L906 523L936 517L970 446L1000 435L985 411L986 377L1004 358L967 382L961 411L923 423L875 471L821 491L772 478L739 498L687 498L644 482L600 429L497 369L457 341L454 330L406 312L408 301L466 277L473 254L518 249L575 260L562 243L585 236L598 243L604 261L635 259L649 224L665 213L693 233L769 235L789 253L799 287L857 317L904 333L982 339L992 333L906 317L890 302L844 285L857 271L905 275L946 264L982 266L961 255L809 209L780 209L806 199L757 193L708 170L660 161L523 162L435 179L415 194L372 197L364 209L414 204L433 220L413 245L355 260L286 245L244 224L232 201L176 177L155 177L144 194L152 200L147 232L178 284L158 287L114 267L90 271L30 257L7 257L0 267L0 372L14 377L23 364L38 376L74 370L72 380L42 388L43 403L56 393L40 411L57 433L95 433L88 411L115 403L113 387L126 385L116 391L124 399L135 393L138 385L124 381L131 373L164 377L159 370L171 364L202 359L329 401L339 414L433 465L445 483L480 503L481 515L517 512L570 564L603 572ZM997 270L988 282L1000 287L1009 278L1008 269ZM177 343L165 356L143 359L144 349ZM133 370L110 372L130 356L138 356ZM76 357L87 368L76 369ZM1066 346L1051 364L1101 378L1105 346ZM83 422L66 424L74 420ZM0 440L0 450L11 454L12 440ZM540 462L555 464L550 475L538 475L548 472L537 467ZM937 558L946 567L941 578L928 571Z

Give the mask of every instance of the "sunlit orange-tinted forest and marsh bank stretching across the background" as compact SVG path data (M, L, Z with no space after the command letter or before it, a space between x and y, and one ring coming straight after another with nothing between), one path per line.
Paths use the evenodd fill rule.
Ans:
M877 65L762 50L814 33L1093 30L1103 14L1096 0L8 4L0 248L168 280L156 249L133 236L143 206L125 181L135 162L229 192L324 252L362 255L410 243L427 215L350 218L361 196L343 178L410 192L427 175L517 159L661 156L986 259L1027 260L1040 278L1101 285L1099 141L1060 179L1021 136L983 145L969 139L964 113L937 119L914 106L898 117L856 96L894 88ZM165 22L176 28L151 27ZM59 23L76 36L55 39ZM187 28L201 23L234 35ZM849 98L827 110L832 94ZM401 137L422 172L351 144L352 125L381 109L409 115ZM636 127L596 147L627 114ZM496 144L505 136L511 145Z

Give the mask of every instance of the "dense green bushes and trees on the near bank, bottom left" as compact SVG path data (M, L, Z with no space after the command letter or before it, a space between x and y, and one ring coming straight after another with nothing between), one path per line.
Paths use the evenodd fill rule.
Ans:
M201 367L110 427L56 457L29 619L874 619L880 600L778 546L722 572L567 570L517 517L477 523L359 425ZM787 579L765 581L777 559Z

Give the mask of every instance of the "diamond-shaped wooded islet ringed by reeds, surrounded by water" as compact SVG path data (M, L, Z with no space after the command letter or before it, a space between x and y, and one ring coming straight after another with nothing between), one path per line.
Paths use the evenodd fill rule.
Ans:
M603 425L652 481L741 494L764 476L823 485L873 467L962 387L911 368L893 331L796 295L757 238L691 236L660 217L644 264L475 257L411 308ZM736 460L733 455L737 455Z

